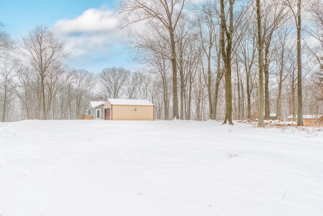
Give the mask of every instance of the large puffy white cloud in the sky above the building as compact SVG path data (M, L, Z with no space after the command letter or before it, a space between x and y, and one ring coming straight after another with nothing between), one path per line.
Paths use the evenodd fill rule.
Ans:
M111 61L117 52L122 52L121 39L125 32L117 24L118 19L112 11L91 8L74 19L57 21L51 31L65 42L66 51L71 53L68 59L71 66L82 68L91 62L96 65L106 62L104 67L121 66L109 65L109 62L114 63Z

